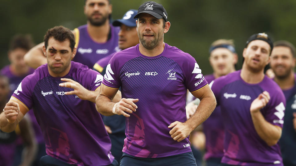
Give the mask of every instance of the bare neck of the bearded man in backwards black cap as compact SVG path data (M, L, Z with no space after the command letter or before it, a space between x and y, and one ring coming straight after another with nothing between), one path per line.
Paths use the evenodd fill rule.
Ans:
M263 71L264 69L256 72L252 71L251 69L248 69L248 66L244 63L241 69L241 78L248 84L258 84L265 77Z

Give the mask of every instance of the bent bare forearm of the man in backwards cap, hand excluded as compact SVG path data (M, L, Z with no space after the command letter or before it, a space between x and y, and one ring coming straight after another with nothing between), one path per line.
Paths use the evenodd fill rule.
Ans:
M267 122L260 111L251 113L252 121L257 134L269 146L277 144L281 138L282 129Z

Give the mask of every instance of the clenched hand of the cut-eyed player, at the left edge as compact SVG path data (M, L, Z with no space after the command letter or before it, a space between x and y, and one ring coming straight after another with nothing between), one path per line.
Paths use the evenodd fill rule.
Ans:
M9 123L14 123L16 117L19 114L19 104L14 101L9 101L6 103L4 109L5 117Z

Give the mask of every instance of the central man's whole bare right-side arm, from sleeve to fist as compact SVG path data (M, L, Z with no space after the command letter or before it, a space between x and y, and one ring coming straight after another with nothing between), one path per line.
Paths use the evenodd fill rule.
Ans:
M200 99L195 113L184 123L175 121L168 126L168 128L172 128L171 137L178 142L185 139L192 130L203 123L216 107L215 96L208 85L192 94Z

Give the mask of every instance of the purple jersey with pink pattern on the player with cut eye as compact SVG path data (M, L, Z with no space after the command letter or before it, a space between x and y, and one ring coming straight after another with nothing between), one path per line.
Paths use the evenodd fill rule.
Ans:
M72 79L88 90L96 90L103 76L87 66L71 62ZM108 165L114 157L111 142L95 104L60 87L60 77L48 73L47 64L23 79L12 95L28 109L33 108L49 156L75 165Z

